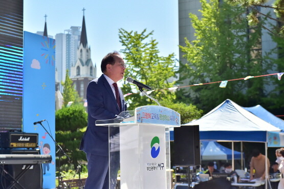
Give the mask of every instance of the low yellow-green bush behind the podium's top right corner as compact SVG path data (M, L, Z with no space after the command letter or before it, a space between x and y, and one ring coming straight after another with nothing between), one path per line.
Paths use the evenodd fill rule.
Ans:
M203 111L198 110L196 106L193 106L192 104L187 105L183 102L172 103L169 101L162 101L161 105L180 113L181 124L188 123L193 119L199 119L203 113Z

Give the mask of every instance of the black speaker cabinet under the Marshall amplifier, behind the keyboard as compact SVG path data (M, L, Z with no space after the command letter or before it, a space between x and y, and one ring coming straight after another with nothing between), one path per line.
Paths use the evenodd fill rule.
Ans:
M0 150L1 154L40 154L39 150ZM3 165L1 165L3 166ZM4 169L16 178L17 175L25 169L25 164L9 164L4 165ZM0 189L6 189L12 182L11 179L7 179L4 177L4 173L0 173ZM19 184L27 189L41 189L42 188L42 166L41 164L34 164L30 167L30 169L17 180ZM20 188L17 184L15 184L12 189Z

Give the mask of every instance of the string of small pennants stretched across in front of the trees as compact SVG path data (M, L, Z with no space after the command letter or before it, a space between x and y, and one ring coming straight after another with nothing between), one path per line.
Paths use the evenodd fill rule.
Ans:
M176 91L178 88L185 88L185 87L193 87L193 86L201 86L201 85L208 85L208 84L213 84L213 83L219 83L220 82L220 88L226 88L228 81L235 81L235 80L248 80L254 77L265 77L265 76L270 76L270 75L277 75L278 80L281 80L282 75L284 74L284 72L280 72L280 73L273 73L273 74L266 74L266 75L257 75L257 76L247 76L244 78L237 78L237 79L229 79L229 80L223 80L223 81L214 81L214 82L207 82L207 83L198 83L198 84L193 84L193 85L189 85L189 86L181 86L181 87L171 87L168 89L162 89L162 90L170 90L170 91ZM158 89L161 90L161 89ZM147 91L147 94L150 94L151 92L153 92L155 90L152 91ZM132 95L132 94L137 94L137 93L127 93L124 95L124 97Z

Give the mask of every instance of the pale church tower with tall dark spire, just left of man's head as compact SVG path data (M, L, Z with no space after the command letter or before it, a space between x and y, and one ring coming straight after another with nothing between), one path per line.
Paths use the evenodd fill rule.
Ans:
M85 16L83 16L80 45L77 50L77 61L71 66L70 78L79 96L86 99L86 91L91 80L96 78L97 68L91 59L91 48L88 47Z

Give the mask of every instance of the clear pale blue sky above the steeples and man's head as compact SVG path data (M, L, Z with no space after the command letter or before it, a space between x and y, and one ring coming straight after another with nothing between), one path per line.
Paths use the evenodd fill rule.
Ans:
M101 75L100 62L103 56L123 47L119 42L118 30L147 33L156 39L161 56L170 53L179 55L178 1L176 0L24 0L24 31L43 31L47 15L48 35L71 26L82 26L85 8L85 24L91 58ZM178 58L179 59L179 58ZM126 62L127 63L127 62Z

